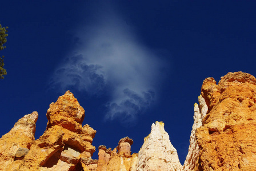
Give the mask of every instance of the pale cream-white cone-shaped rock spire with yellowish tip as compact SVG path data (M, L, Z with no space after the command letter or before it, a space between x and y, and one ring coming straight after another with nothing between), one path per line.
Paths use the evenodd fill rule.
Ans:
M152 124L150 135L145 137L139 150L136 170L182 170L177 150L163 126L158 121Z

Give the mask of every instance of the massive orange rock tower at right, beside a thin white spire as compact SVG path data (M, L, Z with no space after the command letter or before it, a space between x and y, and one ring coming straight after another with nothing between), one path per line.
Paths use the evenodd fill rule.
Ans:
M211 78L202 86L208 106L202 127L195 170L255 170L256 79L234 72L218 83Z

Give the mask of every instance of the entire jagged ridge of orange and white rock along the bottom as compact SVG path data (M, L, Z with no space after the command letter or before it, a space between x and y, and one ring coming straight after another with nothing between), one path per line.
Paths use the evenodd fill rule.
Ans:
M219 83L203 81L189 152L182 166L162 122L153 123L138 153L133 140L121 139L113 150L99 146L91 156L96 131L82 126L85 111L67 91L50 104L46 131L35 140L38 113L25 115L0 139L0 170L255 170L256 79L229 72Z

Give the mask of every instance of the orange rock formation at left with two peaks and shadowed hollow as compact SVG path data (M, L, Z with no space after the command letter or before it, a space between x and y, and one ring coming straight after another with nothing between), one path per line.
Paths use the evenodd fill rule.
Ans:
M0 170L86 170L95 165L91 143L96 131L82 127L85 111L73 93L67 91L51 103L46 115L47 128L38 140L34 141L37 112L22 117L0 139L1 148L7 145L0 155L7 158L0 161L5 162Z

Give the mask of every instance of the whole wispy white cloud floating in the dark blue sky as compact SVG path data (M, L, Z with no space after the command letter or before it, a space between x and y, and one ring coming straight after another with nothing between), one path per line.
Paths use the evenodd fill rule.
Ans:
M164 64L117 16L81 26L77 45L55 70L51 86L90 95L107 92L105 119L130 124L156 100Z

